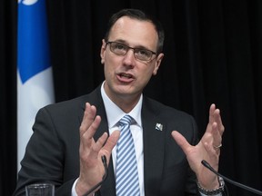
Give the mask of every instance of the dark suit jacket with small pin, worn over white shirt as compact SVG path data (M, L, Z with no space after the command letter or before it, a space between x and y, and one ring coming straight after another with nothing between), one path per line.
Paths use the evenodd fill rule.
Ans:
M14 195L25 194L25 185L43 181L55 184L55 195L71 195L72 185L79 175L79 126L86 102L96 105L97 114L102 117L95 139L108 132L100 86L93 93L39 110ZM188 142L196 144L195 120L146 96L141 115L146 196L198 195L196 176L190 170L184 152L171 137L171 132L176 130ZM156 123L163 124L163 131L156 129ZM108 177L96 195L116 195L111 160Z

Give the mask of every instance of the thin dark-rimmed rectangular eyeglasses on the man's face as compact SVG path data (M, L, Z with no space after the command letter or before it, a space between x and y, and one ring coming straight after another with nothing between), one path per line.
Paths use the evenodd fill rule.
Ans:
M109 44L110 51L117 55L126 55L126 53L130 49L132 49L134 51L134 56L136 60L139 60L139 61L148 62L153 59L154 54L157 56L155 52L146 50L144 48L133 48L133 47L129 47L126 44L121 44L117 42L106 42L106 45L107 44Z

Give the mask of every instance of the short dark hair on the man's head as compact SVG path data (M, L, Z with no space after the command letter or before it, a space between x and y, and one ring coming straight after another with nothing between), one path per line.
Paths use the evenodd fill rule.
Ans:
M156 53L161 53L163 51L165 32L161 23L158 20L156 20L156 18L153 17L152 15L146 15L146 13L138 9L122 9L119 12L117 12L115 15L111 16L106 29L106 36L105 36L106 42L108 41L108 37L112 26L115 25L116 21L123 16L127 16L141 21L148 21L153 25L155 25L156 33L158 35Z

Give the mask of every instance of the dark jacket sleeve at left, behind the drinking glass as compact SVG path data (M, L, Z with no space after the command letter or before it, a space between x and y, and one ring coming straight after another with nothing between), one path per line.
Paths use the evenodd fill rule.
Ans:
M57 134L53 121L46 108L36 114L34 132L18 173L15 196L25 195L26 185L44 182L55 185L55 195L71 195L77 177L64 179L65 142Z

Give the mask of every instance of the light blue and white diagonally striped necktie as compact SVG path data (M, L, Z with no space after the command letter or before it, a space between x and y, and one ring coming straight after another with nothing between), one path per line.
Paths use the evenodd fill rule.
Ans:
M132 117L120 121L120 138L116 145L116 196L139 196L135 145L130 132Z

